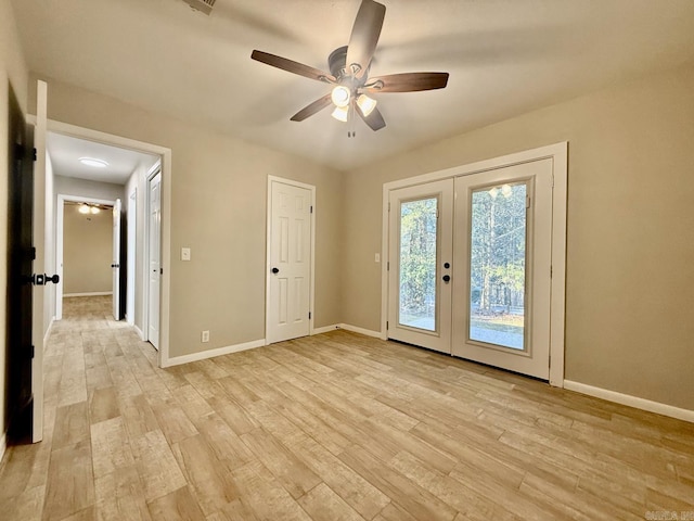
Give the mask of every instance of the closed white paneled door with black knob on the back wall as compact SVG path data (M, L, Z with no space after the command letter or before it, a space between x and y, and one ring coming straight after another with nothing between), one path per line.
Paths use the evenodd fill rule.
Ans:
M270 181L266 342L310 333L311 190Z

